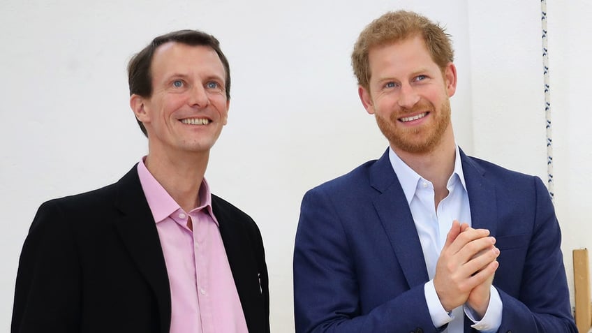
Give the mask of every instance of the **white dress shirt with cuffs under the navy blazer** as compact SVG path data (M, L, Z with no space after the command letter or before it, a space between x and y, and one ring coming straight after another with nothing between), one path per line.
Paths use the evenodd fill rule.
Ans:
M473 310L468 306L459 306L450 314L443 308L436 289L434 288L434 274L436 274L436 262L446 242L446 235L452 226L452 221L471 225L471 209L468 205L468 194L462 170L459 147L456 147L454 158L454 172L448 179L448 195L438 203L436 209L434 202L434 185L422 178L404 161L389 149L389 158L394 172L399 178L403 192L405 193L417 235L420 237L422 251L426 262L430 281L424 286L424 293L435 327L448 324L447 333L462 333L464 331L464 313L473 320L472 325L480 332L496 332L501 325L502 303L498 291L491 286L491 297L485 316L480 321L474 320Z

